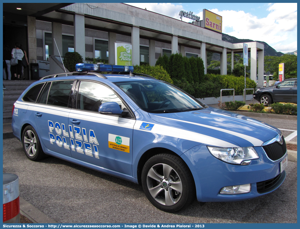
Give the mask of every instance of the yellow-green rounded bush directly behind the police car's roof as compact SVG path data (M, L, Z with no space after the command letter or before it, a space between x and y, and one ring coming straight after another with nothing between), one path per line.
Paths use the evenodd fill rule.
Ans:
M170 75L160 65L158 66L135 65L133 72L147 74L149 76L153 76L155 79L160 79L173 84L173 80L171 79Z

